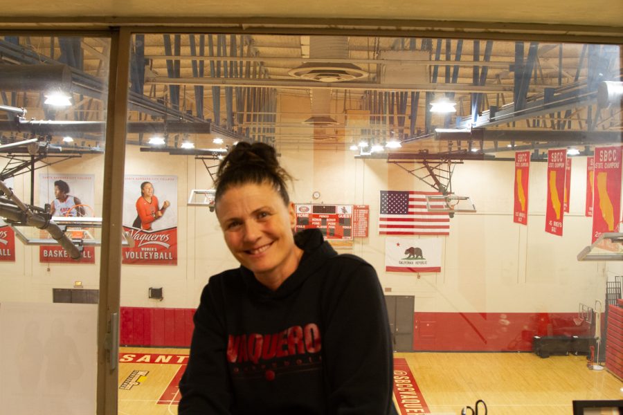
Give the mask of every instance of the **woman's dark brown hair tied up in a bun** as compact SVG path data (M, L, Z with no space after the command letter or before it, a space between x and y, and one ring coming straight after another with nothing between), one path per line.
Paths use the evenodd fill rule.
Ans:
M215 202L233 186L269 183L287 205L290 197L286 182L292 177L279 165L277 152L263 142L238 142L225 156L217 170Z

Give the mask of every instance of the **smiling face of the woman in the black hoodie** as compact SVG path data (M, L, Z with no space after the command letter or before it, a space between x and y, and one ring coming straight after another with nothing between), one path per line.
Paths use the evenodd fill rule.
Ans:
M227 247L260 282L262 277L285 279L294 273L294 204L285 205L272 185L231 187L219 199L216 212Z

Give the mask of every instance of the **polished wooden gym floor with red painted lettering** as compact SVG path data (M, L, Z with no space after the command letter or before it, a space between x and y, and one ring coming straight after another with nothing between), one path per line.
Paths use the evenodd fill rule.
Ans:
M463 407L482 399L491 415L570 415L574 399L623 399L623 382L605 369L589 370L584 356L542 359L534 353L428 352L394 356L394 398L400 414L422 413L415 409L460 414ZM119 415L177 414L177 382L188 349L122 347L119 357Z

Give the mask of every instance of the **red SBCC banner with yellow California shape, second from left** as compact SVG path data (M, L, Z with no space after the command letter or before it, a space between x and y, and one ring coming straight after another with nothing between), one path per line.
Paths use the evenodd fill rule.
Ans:
M562 236L567 150L548 150L548 195L545 197L545 232Z

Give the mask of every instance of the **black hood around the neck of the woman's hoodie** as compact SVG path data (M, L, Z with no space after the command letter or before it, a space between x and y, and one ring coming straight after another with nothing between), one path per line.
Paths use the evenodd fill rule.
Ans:
M251 297L257 297L264 301L287 297L296 291L309 275L323 266L327 259L337 255L337 252L324 240L323 234L318 229L306 229L296 233L294 243L303 250L303 257L301 257L296 271L287 277L276 291L271 291L262 285L251 270L240 266L242 279Z

